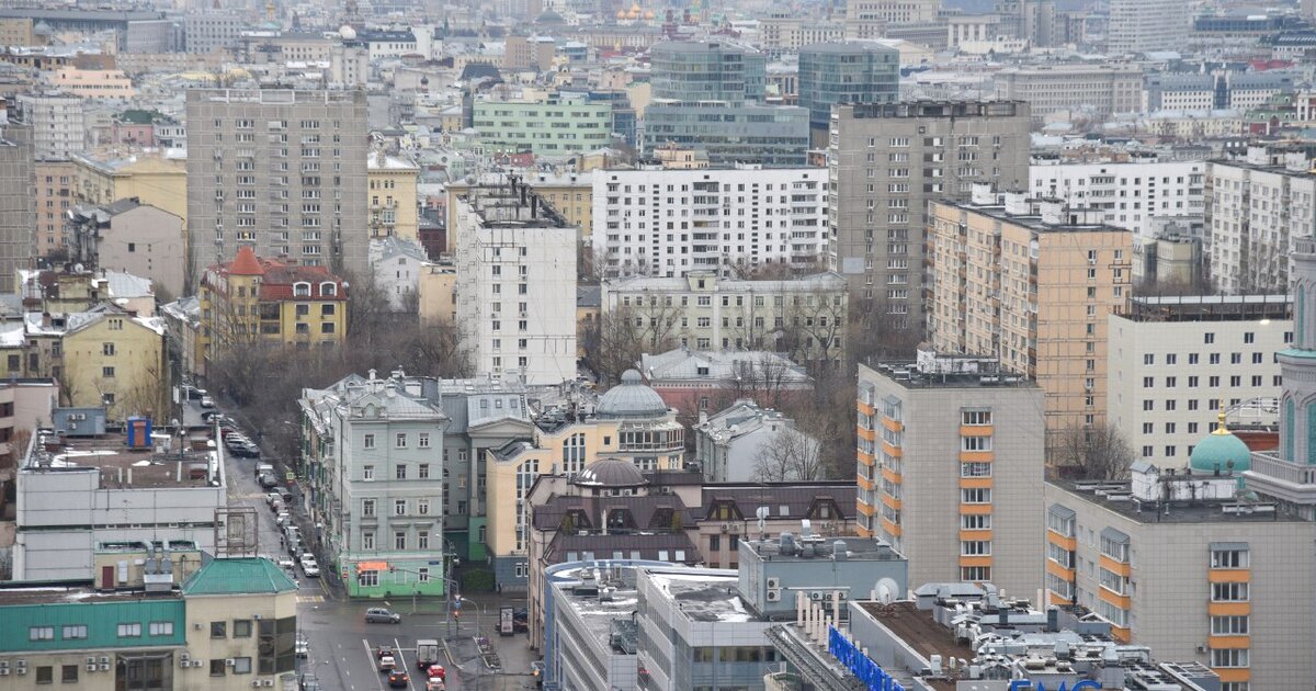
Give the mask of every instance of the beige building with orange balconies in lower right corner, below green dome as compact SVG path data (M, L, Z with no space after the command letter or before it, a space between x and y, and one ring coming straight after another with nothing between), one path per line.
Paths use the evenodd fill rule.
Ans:
M1221 691L1309 687L1316 524L1234 499L1237 479L1134 463L1132 482L1046 483L1046 598L1202 662Z

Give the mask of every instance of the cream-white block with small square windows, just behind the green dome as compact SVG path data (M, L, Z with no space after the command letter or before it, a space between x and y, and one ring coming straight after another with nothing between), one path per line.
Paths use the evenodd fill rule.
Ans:
M1275 353L1292 341L1286 295L1136 297L1111 315L1107 421L1137 458L1182 467L1229 426L1279 422Z

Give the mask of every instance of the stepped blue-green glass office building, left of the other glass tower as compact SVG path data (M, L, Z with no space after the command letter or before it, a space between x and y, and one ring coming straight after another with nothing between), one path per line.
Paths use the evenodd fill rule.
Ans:
M728 42L663 41L650 49L653 103L645 149L701 149L712 165L803 166L808 111L765 105L767 55Z

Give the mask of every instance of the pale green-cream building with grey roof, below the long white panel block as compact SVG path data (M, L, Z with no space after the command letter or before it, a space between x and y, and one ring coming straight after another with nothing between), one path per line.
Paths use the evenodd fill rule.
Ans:
M600 311L644 322L646 336L696 350L778 350L796 362L845 361L848 283L838 274L787 280L629 276L603 282Z

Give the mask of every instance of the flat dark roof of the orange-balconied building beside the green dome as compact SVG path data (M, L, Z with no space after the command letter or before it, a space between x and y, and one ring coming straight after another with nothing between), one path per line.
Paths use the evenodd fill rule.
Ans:
M1179 476L1187 478L1191 475ZM1275 504L1258 501L1199 499L1169 501L1159 507L1153 501L1134 501L1128 482L1048 480L1048 484L1142 524L1305 523L1280 512Z

